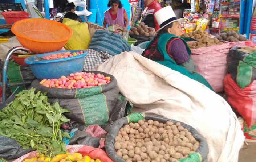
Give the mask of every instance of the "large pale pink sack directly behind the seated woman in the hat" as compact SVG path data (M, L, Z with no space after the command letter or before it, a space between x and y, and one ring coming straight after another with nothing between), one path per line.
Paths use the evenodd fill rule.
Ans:
M227 55L229 43L191 49L191 58L196 65L196 72L202 75L215 92L223 92L223 80L227 75Z

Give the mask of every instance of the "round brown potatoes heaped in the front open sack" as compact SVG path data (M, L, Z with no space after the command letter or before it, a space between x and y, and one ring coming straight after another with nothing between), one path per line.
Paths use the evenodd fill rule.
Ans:
M119 130L114 147L127 162L174 162L196 151L199 142L180 122L139 120Z

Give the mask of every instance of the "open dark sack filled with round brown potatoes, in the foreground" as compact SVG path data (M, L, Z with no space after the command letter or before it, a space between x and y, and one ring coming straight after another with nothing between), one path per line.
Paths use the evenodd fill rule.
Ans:
M134 113L135 114L135 113ZM137 113L140 114L140 113ZM133 114L131 114L133 115ZM158 116L142 115L115 122L106 137L106 152L114 162L199 162L207 159L208 145L191 126Z

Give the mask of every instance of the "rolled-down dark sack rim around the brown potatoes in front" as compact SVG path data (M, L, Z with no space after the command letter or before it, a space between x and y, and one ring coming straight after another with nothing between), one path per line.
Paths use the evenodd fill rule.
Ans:
M160 116L147 115L143 113L132 113L131 115L118 119L117 121L115 121L113 125L111 125L110 130L107 133L106 142L105 142L106 152L114 162L126 162L115 153L114 143L115 143L115 137L117 136L119 129L123 125L129 124L130 122L138 122L139 120L147 121L150 119L154 121L163 122L163 123L166 123L167 121L172 121L174 122L174 124L176 122L180 122L176 120L163 118ZM201 134L199 134L196 131L196 129L194 129L192 126L187 125L183 122L180 122L180 124L184 128L188 129L189 132L192 133L192 136L197 141L199 141L200 145L199 145L199 148L194 153L189 154L187 158L179 159L178 162L208 162L207 155L209 153L209 149L204 137Z

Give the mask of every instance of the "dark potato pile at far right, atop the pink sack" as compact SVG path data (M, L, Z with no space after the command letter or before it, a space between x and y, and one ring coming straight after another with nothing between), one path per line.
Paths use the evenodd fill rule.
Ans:
M215 38L217 38L220 41L228 41L228 42L239 42L239 41L247 40L243 35L238 34L235 31L221 33L220 35L216 36Z

